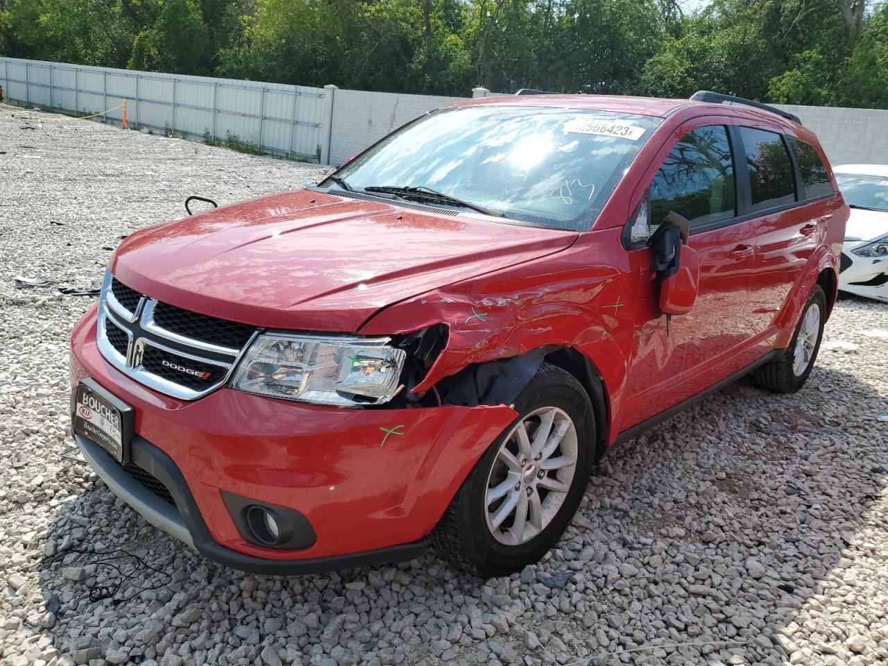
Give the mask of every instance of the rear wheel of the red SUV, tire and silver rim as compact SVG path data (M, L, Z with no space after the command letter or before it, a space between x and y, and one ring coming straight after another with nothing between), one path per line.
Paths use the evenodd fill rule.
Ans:
M821 348L826 313L826 294L815 284L789 346L780 357L756 370L759 385L780 393L796 392L805 385Z

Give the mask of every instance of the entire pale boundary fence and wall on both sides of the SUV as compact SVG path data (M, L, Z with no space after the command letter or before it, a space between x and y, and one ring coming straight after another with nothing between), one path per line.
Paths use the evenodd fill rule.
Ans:
M396 92L311 88L283 83L158 74L128 69L0 58L5 95L42 107L87 115L114 109L123 99L128 120L200 139L227 136L278 155L321 164L342 163L402 123L463 98ZM495 95L484 88L472 97ZM888 162L888 111L784 107L821 139L834 164Z

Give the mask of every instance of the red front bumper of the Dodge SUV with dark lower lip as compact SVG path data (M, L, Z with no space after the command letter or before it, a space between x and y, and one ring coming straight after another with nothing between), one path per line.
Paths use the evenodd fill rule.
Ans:
M107 363L95 323L91 310L75 327L72 384L91 377L131 405L132 462L163 483L175 505L77 437L84 456L148 522L246 571L312 573L416 557L472 466L516 416L504 405L321 408L227 388L176 400ZM396 425L403 427L384 443L381 429ZM223 493L298 511L316 541L300 550L251 543Z

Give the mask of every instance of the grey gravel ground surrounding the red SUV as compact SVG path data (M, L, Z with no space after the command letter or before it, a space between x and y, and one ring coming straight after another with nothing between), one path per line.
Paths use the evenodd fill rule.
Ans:
M888 662L888 305L841 300L836 349L797 395L743 381L615 450L519 575L432 554L242 575L62 456L67 336L94 299L56 288L98 286L120 236L187 194L232 202L321 170L22 114L0 107L0 663Z

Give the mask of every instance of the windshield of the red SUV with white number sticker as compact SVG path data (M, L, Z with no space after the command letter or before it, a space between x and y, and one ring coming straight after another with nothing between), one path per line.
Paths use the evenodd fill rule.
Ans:
M441 109L384 139L323 185L385 187L413 201L481 207L535 226L587 231L659 123L564 108ZM429 190L445 197L432 198Z

